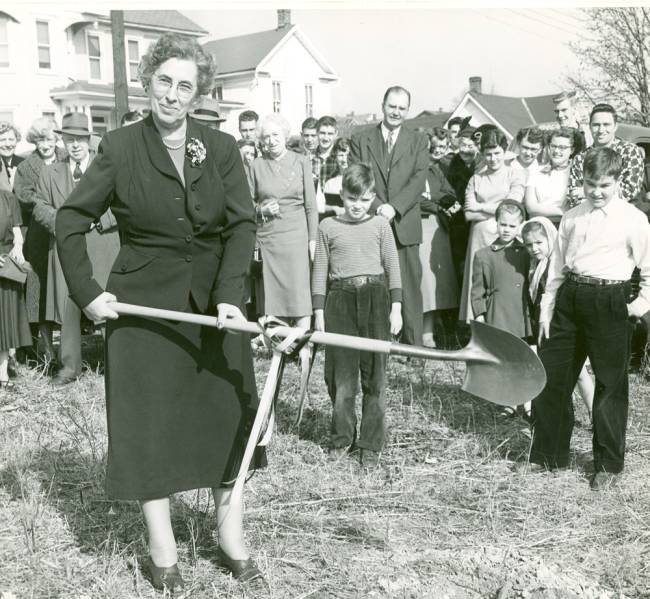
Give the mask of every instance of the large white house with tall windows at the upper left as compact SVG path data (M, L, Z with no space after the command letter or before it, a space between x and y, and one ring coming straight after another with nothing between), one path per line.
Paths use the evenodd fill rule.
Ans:
M124 11L129 108L147 106L137 80L140 56L165 31L196 38L207 31L177 11ZM93 131L117 126L108 12L9 3L0 11L0 120L25 132L39 116L89 115ZM24 141L19 151L30 149Z

